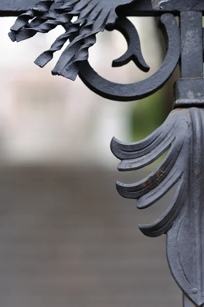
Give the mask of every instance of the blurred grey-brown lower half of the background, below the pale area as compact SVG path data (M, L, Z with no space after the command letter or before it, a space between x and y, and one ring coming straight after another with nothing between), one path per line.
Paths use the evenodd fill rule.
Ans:
M139 211L117 194L118 178L100 168L1 170L1 306L181 305L165 235L148 238L137 228L164 203Z

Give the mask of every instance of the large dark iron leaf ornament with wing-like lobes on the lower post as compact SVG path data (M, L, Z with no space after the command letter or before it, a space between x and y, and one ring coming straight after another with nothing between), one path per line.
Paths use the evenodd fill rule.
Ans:
M120 171L149 165L167 151L159 166L135 184L117 182L125 198L144 209L162 198L176 183L174 199L166 212L150 225L139 225L147 236L167 233L171 273L196 306L204 303L204 109L177 108L157 130L136 143L115 138L111 150L121 160Z

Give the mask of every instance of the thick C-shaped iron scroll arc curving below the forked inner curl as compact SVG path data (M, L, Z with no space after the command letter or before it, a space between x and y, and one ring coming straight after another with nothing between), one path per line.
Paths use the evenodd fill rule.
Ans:
M180 34L175 17L169 13L163 14L160 28L168 37L166 58L160 68L147 79L130 84L114 83L99 76L88 61L79 64L79 77L90 90L111 100L131 101L153 94L170 78L180 57Z

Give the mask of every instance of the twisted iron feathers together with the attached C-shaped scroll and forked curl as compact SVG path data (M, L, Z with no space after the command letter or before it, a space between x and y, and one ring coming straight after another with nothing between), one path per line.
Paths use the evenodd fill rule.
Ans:
M70 40L55 68L53 75L62 75L74 80L79 74L83 82L95 93L112 100L130 101L141 99L157 91L173 73L180 56L180 36L176 20L171 14L161 16L160 27L168 37L168 50L161 67L145 80L120 84L100 77L88 62L88 50L96 42L100 31L118 30L128 42L127 52L113 61L118 67L133 60L137 67L145 72L149 66L145 62L140 48L138 33L125 17L119 17L120 7L134 3L132 0L43 0L34 8L20 15L9 33L13 41L21 41L34 36L37 32L47 33L58 25L66 32L60 35L51 48L43 52L35 63L44 67L55 51L63 48ZM117 12L117 14L116 14ZM78 16L72 23L72 18Z

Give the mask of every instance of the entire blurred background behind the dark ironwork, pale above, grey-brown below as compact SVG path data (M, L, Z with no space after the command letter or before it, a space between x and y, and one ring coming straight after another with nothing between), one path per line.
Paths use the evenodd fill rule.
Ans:
M164 60L156 19L130 18L151 70L134 63L111 68L127 49L117 31L97 35L90 63L103 77L129 83L146 78ZM0 19L0 305L2 307L179 306L181 293L168 269L165 235L148 238L151 223L173 191L153 208L121 198L115 181L136 182L144 170L117 172L113 136L146 137L172 108L174 73L147 99L116 102L92 93L79 78L54 77L55 54L44 69L33 61L61 33L12 43L15 18Z

